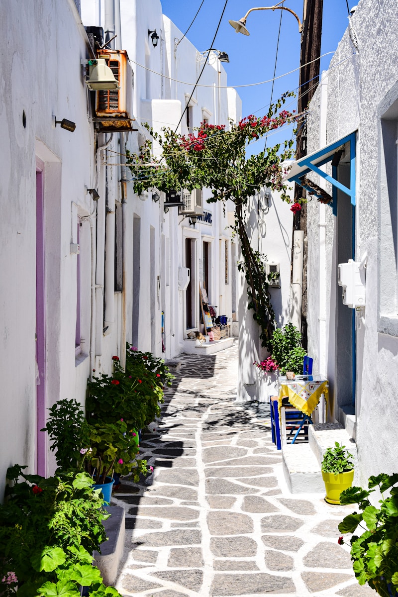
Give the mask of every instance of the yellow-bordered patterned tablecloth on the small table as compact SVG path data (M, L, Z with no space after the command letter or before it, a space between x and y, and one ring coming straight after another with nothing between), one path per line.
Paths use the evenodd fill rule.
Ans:
M329 398L328 380L320 383L307 380L292 380L288 383L282 383L279 387L278 395L279 416L282 398L285 398L285 396L288 396L292 406L310 416L314 408L319 404L322 394L325 396L327 411Z

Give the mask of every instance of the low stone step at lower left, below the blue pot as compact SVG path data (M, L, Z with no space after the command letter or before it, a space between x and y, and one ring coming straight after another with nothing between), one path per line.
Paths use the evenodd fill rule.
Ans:
M101 553L94 552L94 564L99 568L104 584L113 586L118 579L125 541L125 510L120 506L106 506L110 517L103 521L108 540L101 544Z

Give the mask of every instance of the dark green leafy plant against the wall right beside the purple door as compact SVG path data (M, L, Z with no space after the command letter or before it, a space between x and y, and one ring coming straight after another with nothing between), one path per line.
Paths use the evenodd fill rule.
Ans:
M50 448L55 451L57 460L57 472L76 468L84 441L81 405L76 400L58 400L48 412L47 425L41 431L47 431L50 437Z

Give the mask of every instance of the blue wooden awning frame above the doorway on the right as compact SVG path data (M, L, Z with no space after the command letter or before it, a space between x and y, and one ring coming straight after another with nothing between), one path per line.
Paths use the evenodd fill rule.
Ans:
M326 174L322 170L320 170L320 166L331 162L334 158L335 150L339 147L344 145L345 143L350 143L350 188L346 187L344 184L337 180L337 166L332 166L332 176ZM295 173L295 170L300 171ZM304 170L301 170L304 168ZM295 182L299 184L303 189L306 189L311 195L315 195L316 197L320 198L320 195L314 193L311 187L307 186L307 184L301 180L304 176L308 173L314 172L319 174L323 179L327 180L329 183L332 184L332 211L334 216L337 216L337 191L341 190L341 192L348 195L350 198L351 205L356 205L356 131L350 133L339 139L338 141L334 141L330 145L323 147L322 149L317 150L316 152L310 153L310 155L304 156L304 158L299 159L297 162L294 162L291 168L291 174L287 177L289 182Z

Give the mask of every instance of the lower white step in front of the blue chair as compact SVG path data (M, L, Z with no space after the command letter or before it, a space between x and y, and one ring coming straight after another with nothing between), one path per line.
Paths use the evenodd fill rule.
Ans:
M325 493L320 466L309 444L282 445L282 464L291 493Z

